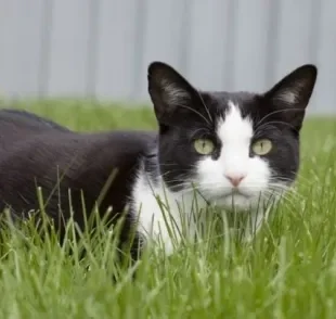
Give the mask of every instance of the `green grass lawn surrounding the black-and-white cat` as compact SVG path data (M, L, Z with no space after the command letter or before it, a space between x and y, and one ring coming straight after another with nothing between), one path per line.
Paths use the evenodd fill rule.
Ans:
M78 130L155 127L147 109L25 106ZM297 193L253 244L225 238L169 259L145 255L134 281L111 261L104 230L99 243L87 241L87 264L53 238L41 241L31 230L27 239L29 226L12 230L1 244L0 318L335 318L335 137L336 118L306 122Z

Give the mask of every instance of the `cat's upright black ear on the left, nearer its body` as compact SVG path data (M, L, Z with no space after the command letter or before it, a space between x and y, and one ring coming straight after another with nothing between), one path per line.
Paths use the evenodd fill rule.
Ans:
M152 62L148 66L148 93L154 104L155 115L160 123L169 123L176 115L190 113L194 107L196 91L175 68L163 62Z

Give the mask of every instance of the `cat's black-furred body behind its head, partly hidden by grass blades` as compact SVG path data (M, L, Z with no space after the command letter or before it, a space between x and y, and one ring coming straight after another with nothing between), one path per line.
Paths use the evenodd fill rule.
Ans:
M37 187L41 187L46 212L62 238L70 214L68 190L75 220L83 228L81 192L86 212L91 212L118 169L100 205L102 215L112 206L111 219L117 220L129 200L140 158L151 156L155 139L156 133L150 131L79 133L27 112L1 110L0 210L10 207L14 219L26 218L29 210L39 209ZM122 240L128 239L132 224L131 214L126 214Z

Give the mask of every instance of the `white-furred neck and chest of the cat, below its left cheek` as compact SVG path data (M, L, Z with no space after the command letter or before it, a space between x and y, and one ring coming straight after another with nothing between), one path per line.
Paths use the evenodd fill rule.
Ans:
M181 233L183 237L195 234L199 221L194 220L194 213L206 207L206 202L193 192L176 192L167 187L156 152L143 158L131 201L138 230L146 238L159 240L168 254L173 251L173 242L180 242Z

